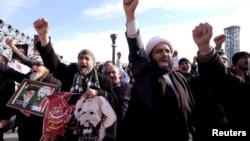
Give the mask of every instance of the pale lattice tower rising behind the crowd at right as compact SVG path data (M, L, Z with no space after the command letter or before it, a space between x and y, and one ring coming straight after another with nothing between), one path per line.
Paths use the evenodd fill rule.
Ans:
M230 26L224 28L226 34L225 52L228 57L228 64L232 65L232 56L240 51L240 26Z

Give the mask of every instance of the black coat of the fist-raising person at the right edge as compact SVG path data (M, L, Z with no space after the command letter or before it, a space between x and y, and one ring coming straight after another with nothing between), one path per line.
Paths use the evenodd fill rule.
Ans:
M214 50L206 56L198 56L198 67L200 77L212 82L209 83L209 87L218 93L218 98L227 111L228 128L249 132L249 83L242 82L233 75Z

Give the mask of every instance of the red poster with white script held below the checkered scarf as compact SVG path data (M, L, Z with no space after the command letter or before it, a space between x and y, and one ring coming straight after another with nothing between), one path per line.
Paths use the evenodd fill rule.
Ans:
M49 104L44 117L42 141L64 136L75 110L75 104L68 104L71 96L70 92L58 92L47 97Z

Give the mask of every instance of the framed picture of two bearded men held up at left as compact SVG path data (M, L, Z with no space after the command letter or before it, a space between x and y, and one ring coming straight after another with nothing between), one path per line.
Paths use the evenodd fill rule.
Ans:
M53 94L57 88L57 85L24 79L8 101L7 106L44 116L48 105L46 97Z

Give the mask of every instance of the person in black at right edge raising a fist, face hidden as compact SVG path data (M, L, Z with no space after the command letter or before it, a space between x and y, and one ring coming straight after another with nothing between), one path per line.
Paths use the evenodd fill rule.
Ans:
M239 141L249 140L250 85L233 75L224 64L223 58L211 47L212 29L209 23L200 23L193 29L193 39L198 47L200 78L210 82L207 87L216 91L216 97L227 112L227 129L212 129L211 134L220 136L220 140L228 140L225 136L237 136L236 140Z

